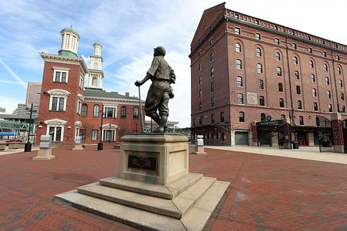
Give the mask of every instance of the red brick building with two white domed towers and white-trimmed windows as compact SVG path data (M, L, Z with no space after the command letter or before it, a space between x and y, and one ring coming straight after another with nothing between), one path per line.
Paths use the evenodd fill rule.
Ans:
M128 92L121 95L102 89L101 44L93 44L94 54L90 55L88 69L85 60L77 55L78 33L73 28L60 33L58 55L40 53L44 71L37 144L41 135L51 135L55 145L71 145L78 136L85 144L96 144L100 140L119 142L124 133L139 132L139 99L130 97ZM85 76L87 87L84 87Z

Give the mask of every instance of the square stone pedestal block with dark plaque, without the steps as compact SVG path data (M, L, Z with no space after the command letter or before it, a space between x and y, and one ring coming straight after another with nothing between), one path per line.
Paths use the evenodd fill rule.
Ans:
M153 133L121 137L119 176L167 185L188 173L188 138Z

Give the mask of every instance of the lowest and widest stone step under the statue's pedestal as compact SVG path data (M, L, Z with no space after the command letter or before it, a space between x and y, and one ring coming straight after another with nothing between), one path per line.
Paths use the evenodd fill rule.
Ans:
M203 230L228 185L229 182L215 181L181 219L80 194L76 190L56 195L55 200L142 230L193 231Z

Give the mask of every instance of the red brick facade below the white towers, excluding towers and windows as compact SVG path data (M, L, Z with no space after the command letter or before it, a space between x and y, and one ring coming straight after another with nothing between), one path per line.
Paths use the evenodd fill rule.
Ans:
M112 136L106 137L105 133L103 134L103 142L119 142L121 135L124 135L124 133L140 131L139 113L135 116L133 114L134 108L139 108L139 101L136 97L130 97L128 93L124 96L117 92L104 92L101 90L96 92L97 96L88 96L86 92L93 94L92 90L83 90L83 83L81 85L80 82L81 80L84 81L87 72L87 67L82 58L44 53L41 56L44 59L44 72L40 112L37 120L37 144L40 143L41 135L49 135L51 132L54 145L72 145L76 136L83 137L83 143L85 144L100 142L101 110L107 105L112 105L115 108L115 117L108 117L107 115L103 117L103 132L112 131ZM68 72L67 83L55 82L53 78L55 69ZM62 97L54 91L69 93L65 99L65 110L52 110L52 96ZM79 107L78 101L81 102ZM99 105L96 114L94 114L94 105ZM85 107L86 110L83 112ZM121 108L124 107L126 113L121 116ZM144 107L142 107L142 111L144 112ZM111 126L109 126L110 123ZM54 137L59 139L59 135L57 135L59 132L60 140L54 140Z

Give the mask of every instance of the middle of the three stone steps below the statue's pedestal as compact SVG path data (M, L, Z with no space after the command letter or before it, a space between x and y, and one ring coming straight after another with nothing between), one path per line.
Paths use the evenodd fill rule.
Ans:
M174 199L169 200L146 194L139 194L124 189L116 189L100 185L98 182L84 185L77 188L78 193L86 194L104 200L110 200L122 205L128 205L138 209L144 209L149 212L172 216L180 219L196 201L205 194L216 178L200 178L194 185L181 192ZM154 185L155 186L155 185Z

